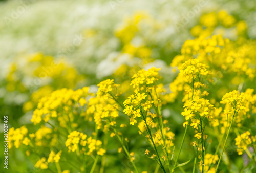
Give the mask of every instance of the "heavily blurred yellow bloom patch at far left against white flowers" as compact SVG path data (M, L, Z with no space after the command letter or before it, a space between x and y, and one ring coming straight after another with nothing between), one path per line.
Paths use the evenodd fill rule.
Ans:
M70 64L63 60L55 62L54 57L45 56L42 53L26 56L25 62L17 61L11 65L6 76L7 91L17 90L21 93L29 93L31 87L40 86L31 94L30 100L23 105L24 112L33 110L39 99L47 96L54 89L74 88L78 82L84 80L84 77L78 75L76 69Z

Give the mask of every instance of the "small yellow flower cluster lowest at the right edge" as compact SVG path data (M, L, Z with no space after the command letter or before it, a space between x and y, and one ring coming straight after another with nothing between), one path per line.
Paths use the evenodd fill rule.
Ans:
M239 155L243 154L243 151L247 149L252 142L256 142L256 136L251 136L249 131L239 135L236 139L236 145L238 146L237 152Z

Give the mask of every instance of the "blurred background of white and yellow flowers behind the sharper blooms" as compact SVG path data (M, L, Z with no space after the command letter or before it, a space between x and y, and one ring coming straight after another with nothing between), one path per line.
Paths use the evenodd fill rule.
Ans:
M161 67L169 90L172 59L199 32L256 38L254 0L6 0L0 9L0 112L9 128L30 124L38 100L56 89L96 91L110 76L129 85L142 68Z

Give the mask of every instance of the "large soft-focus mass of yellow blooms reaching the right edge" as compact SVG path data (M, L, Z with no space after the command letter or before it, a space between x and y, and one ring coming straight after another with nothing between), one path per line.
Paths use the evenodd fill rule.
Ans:
M184 42L181 55L177 55L173 59L171 66L181 67L182 63L196 58L199 62L205 63L218 79L222 80L228 73L230 83L238 85L246 77L252 80L255 76L255 45L254 41L246 41L245 38L230 41L221 35L200 36ZM178 77L170 83L170 90L173 93L166 97L167 101L175 101L178 92L186 90L187 85L184 85L184 81L187 79L181 76L179 73ZM219 98L225 93L223 88L217 88L217 91L220 93L217 94Z

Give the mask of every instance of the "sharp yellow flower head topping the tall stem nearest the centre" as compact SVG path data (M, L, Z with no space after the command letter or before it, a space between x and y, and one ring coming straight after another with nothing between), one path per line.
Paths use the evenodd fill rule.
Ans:
M132 77L131 85L135 88L134 92L138 93L139 91L149 92L152 89L153 83L160 79L158 71L160 68L156 69L155 67L148 69L140 70L138 73L134 74Z

